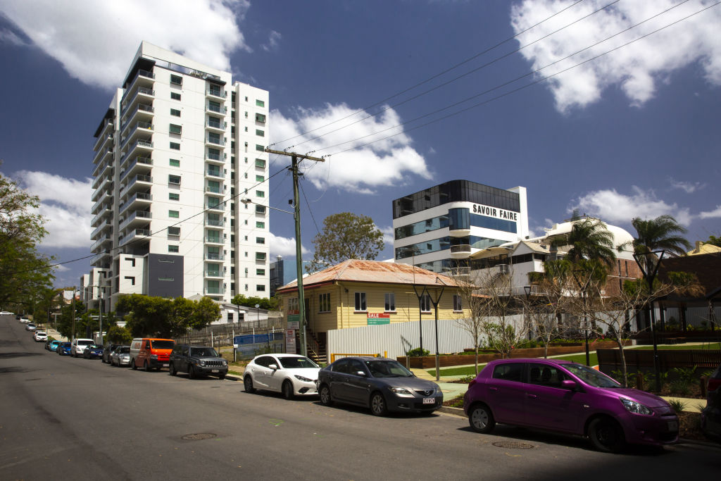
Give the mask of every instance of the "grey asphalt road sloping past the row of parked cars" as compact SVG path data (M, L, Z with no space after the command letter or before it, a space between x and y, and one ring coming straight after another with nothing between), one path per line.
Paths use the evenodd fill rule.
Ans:
M581 438L505 426L481 435L455 415L376 418L242 388L61 357L0 317L0 479L615 481L721 472L721 449L706 446L602 454Z

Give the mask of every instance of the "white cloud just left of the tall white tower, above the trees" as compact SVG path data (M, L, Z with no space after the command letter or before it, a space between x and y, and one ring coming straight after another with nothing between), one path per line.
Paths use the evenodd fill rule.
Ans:
M68 179L47 172L22 170L18 185L40 198L38 212L47 219L42 247L90 247L92 181Z

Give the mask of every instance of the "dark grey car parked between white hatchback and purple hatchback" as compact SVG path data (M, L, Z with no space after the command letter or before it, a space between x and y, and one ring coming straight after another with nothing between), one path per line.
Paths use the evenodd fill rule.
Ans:
M332 402L370 407L373 415L389 411L430 414L443 405L438 384L415 376L386 358L341 358L318 373L322 405Z

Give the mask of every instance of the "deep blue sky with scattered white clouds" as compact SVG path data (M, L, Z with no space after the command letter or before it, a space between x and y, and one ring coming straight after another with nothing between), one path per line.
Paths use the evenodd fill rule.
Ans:
M526 187L535 235L578 208L632 234L670 214L706 240L718 1L0 0L0 173L40 197L39 250L63 262L56 286L78 285L93 133L146 40L268 90L272 148L324 156L301 163L305 259L345 211L392 258L392 200L455 179ZM270 206L289 207L287 167L271 156ZM292 216L270 211L270 231L294 262Z

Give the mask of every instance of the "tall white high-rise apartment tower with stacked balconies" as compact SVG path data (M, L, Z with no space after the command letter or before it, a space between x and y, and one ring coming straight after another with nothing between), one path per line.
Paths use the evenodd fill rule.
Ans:
M141 43L94 133L90 307L270 294L268 111L267 91Z

